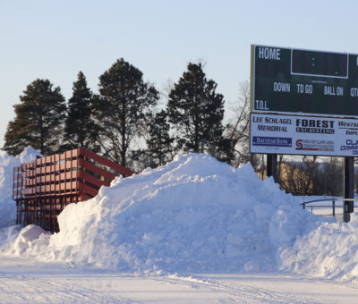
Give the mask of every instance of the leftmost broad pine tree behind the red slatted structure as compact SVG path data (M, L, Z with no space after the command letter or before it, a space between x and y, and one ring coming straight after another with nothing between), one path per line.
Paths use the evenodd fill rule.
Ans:
M60 88L52 87L49 80L35 80L23 91L21 103L13 106L16 116L4 136L8 154L18 155L28 146L43 155L57 152L66 106Z

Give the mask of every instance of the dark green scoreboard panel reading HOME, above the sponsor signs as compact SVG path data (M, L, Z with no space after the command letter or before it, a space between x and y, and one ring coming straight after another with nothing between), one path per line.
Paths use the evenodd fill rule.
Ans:
M251 112L358 116L358 55L252 45Z

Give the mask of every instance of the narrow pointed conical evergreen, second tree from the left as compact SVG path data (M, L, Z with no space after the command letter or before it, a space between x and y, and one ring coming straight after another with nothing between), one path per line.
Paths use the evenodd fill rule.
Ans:
M94 98L87 87L83 72L79 72L78 80L73 82L72 90L64 127L63 148L84 147L98 152L98 125L92 115Z

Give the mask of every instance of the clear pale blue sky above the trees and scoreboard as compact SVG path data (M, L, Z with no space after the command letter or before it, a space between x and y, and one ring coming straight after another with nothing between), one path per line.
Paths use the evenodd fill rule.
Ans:
M68 99L82 71L97 92L124 57L163 89L202 58L229 108L249 80L251 44L358 54L357 12L354 0L0 0L0 145L13 105L38 78Z

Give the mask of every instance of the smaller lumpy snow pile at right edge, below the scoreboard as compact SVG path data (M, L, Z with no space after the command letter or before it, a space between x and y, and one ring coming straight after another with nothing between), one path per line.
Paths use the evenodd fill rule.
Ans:
M298 274L358 281L358 215L350 223L324 223L281 253L282 269Z

